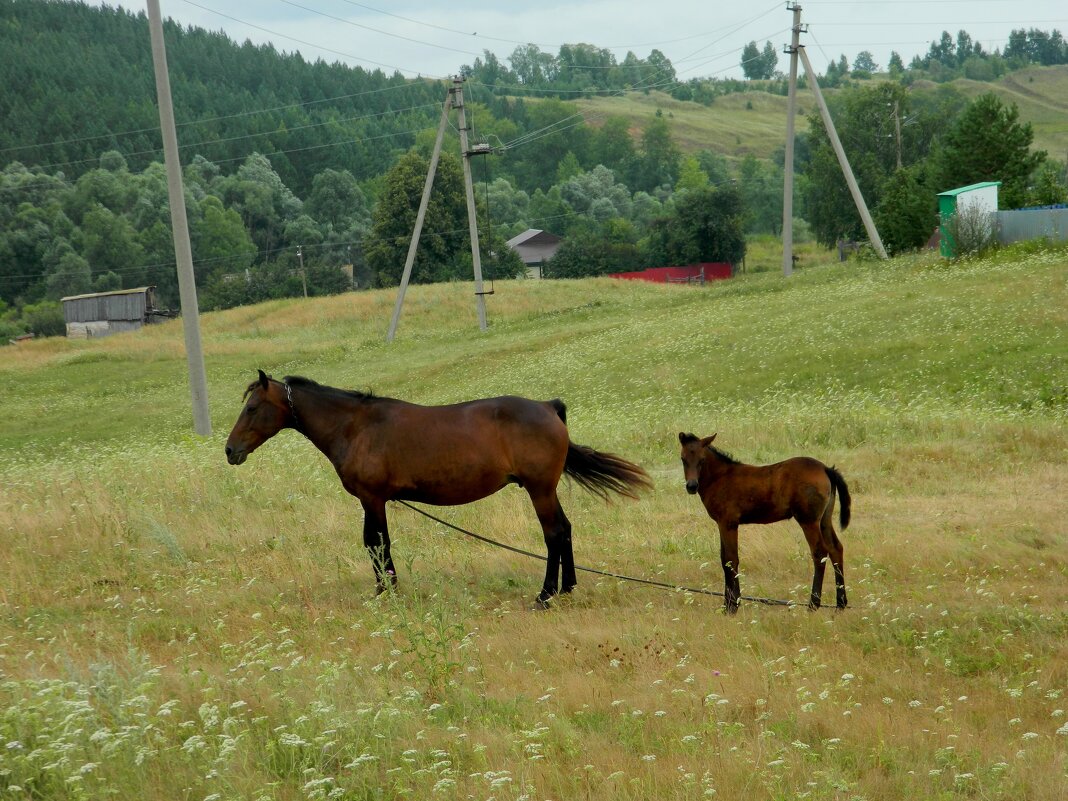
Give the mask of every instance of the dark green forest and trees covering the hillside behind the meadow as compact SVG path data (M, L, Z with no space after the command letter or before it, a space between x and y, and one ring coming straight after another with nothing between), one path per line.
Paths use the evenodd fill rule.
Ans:
M996 54L1000 63L1032 58L1028 43L1041 37L1021 33L1020 52L1011 61ZM1059 34L1042 35L1063 45ZM309 62L173 22L164 36L202 307L295 295L305 283L312 294L339 292L350 286L341 265L354 265L361 287L395 284L449 85ZM0 341L61 330L56 300L65 295L154 284L164 305L176 305L144 14L0 0ZM1059 51L1034 49L1034 60L1050 52ZM779 233L781 157L728 159L711 146L682 153L670 114L635 126L622 114L586 119L561 99L653 90L679 96L689 85L686 99L710 103L738 89L771 89L773 80L712 81L695 92L674 80L656 50L621 63L586 45L555 56L519 47L508 66L490 56L462 70L475 141L493 147L475 160L490 277L520 270L504 240L528 227L566 237L548 269L557 277L737 262L747 233ZM979 58L961 56L954 68ZM831 76L845 84L832 97L839 132L869 204L895 229L894 250L929 233L929 194L939 182L971 183L994 170L1016 203L1065 194L1063 167L1031 152L1030 126L1014 108L992 96L969 103L946 85L905 92L932 63L899 80ZM886 128L893 104L909 121L904 132L858 135ZM1004 146L977 150L961 120L988 139L998 132ZM471 274L459 146L455 132L449 138L417 281ZM981 161L969 157L980 151ZM824 244L860 232L829 154L813 121L799 136L795 227Z

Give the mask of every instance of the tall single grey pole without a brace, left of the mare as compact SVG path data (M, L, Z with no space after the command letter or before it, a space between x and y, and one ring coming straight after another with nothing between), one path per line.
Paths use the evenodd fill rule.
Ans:
M156 73L156 95L159 99L159 129L163 137L163 160L167 163L167 197L171 205L174 258L177 263L178 295L182 300L182 328L186 336L186 362L189 366L193 430L202 437L210 437L211 415L208 412L207 375L204 370L204 351L201 348L197 279L193 276L192 248L189 246L189 221L186 218L186 197L182 187L178 137L174 129L171 78L167 72L167 50L163 47L163 21L159 13L159 0L147 0L147 2L148 32L152 36L152 63Z

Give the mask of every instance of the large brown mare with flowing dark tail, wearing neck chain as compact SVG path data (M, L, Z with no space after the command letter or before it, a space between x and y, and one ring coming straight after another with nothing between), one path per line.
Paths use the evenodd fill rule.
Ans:
M602 498L609 490L633 498L651 486L637 465L571 442L559 399L505 396L417 406L299 376L277 381L263 371L245 395L248 402L226 439L227 461L240 465L283 428L310 439L363 505L363 544L378 592L396 583L387 501L454 506L518 484L534 504L548 549L537 596L544 606L577 583L571 523L556 496L560 476L567 474Z

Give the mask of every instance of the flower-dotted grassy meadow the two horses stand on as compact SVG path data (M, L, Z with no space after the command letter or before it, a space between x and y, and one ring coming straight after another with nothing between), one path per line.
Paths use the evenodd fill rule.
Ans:
M0 798L1028 799L1068 790L1068 253L806 266L705 287L497 282L206 315L215 434L180 323L0 350ZM656 488L568 485L580 564L720 590L677 433L849 482L850 609L719 600L539 563L359 504L302 437L239 467L256 367L420 403L564 398ZM540 550L521 489L444 509ZM791 522L742 591L803 600ZM826 597L826 594L824 594Z

